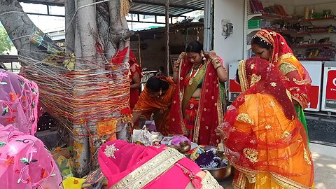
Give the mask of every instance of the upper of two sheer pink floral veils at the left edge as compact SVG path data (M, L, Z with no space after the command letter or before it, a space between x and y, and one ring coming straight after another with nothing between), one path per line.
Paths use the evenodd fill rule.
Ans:
M0 69L0 124L12 125L34 135L37 130L38 86L10 71Z

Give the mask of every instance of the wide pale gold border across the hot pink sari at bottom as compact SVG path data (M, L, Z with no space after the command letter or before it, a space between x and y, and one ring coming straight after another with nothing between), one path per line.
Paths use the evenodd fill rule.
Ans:
M186 156L174 148L167 148L165 151L162 151L144 163L144 165L141 165L130 174L127 174L127 176L118 181L118 183L111 188L143 188L160 174L167 172L170 167L182 158L186 158Z

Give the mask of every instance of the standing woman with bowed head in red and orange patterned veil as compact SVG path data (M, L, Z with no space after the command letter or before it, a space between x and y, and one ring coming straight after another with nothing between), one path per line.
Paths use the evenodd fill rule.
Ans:
M293 55L285 38L275 31L261 29L253 36L252 50L257 57L266 59L284 76L283 81L292 94L297 117L304 125L308 136L308 127L303 110L308 107L311 79L299 60Z

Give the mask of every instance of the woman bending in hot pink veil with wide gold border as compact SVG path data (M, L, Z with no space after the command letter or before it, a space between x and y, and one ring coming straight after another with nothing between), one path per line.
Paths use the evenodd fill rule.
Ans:
M222 188L209 172L165 145L140 146L109 141L99 149L99 165L108 188Z

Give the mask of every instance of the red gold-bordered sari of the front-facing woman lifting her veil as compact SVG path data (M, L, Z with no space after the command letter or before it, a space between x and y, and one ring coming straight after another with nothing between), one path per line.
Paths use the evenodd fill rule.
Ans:
M221 60L223 64L223 60ZM190 69L193 64L182 59L179 68L179 81L173 95L170 113L169 134L188 134L191 141L204 145L216 145L219 142L215 129L223 121L224 85L218 80L211 59L206 59L202 68L190 82ZM197 113L193 104L193 93L202 83L202 92L197 102ZM193 104L193 105L192 105ZM188 106L189 105L189 106ZM192 105L193 107L191 107ZM190 109L194 109L190 111ZM188 113L193 113L191 116ZM190 125L188 123L193 123Z

